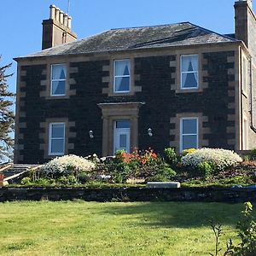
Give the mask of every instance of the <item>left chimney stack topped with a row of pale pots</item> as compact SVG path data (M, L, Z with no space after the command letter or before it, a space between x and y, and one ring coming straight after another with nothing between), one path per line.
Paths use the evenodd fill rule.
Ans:
M55 5L49 6L49 20L43 20L42 49L73 42L77 35L71 30L72 18Z

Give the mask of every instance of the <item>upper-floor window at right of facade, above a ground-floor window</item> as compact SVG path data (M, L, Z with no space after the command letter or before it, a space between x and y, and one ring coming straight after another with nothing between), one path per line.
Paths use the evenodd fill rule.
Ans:
M198 88L198 55L181 55L181 89Z

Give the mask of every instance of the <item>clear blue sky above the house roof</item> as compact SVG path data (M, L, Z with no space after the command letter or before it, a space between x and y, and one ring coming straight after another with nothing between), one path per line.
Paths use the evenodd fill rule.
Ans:
M42 20L49 5L67 12L68 0L1 0L0 66L41 49ZM190 21L219 33L234 32L235 0L70 0L69 15L79 39L110 28ZM16 73L15 61L9 70ZM15 91L16 77L9 79Z

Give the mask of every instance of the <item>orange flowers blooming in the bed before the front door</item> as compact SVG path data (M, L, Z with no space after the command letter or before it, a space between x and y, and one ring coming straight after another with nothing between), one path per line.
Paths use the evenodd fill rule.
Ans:
M141 150L134 150L131 152L131 154L123 151L120 154L121 160L123 160L125 163L130 163L131 161L138 161L142 165L146 165L149 162L152 162L154 160L157 160L158 156L154 153L154 150L151 148L148 148L148 150L141 151Z

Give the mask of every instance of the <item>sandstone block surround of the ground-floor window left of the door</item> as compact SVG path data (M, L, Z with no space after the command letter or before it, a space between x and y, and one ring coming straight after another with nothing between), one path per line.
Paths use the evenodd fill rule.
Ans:
M40 143L40 149L44 150L44 159L49 160L54 158L55 154L49 154L49 125L52 123L65 123L65 152L64 154L68 154L69 149L74 148L73 143L68 143L68 138L76 137L75 132L70 132L69 128L75 126L75 122L68 121L67 118L49 118L45 119L45 122L40 123L40 128L44 129L44 132L39 133L39 138L44 141L44 143Z

